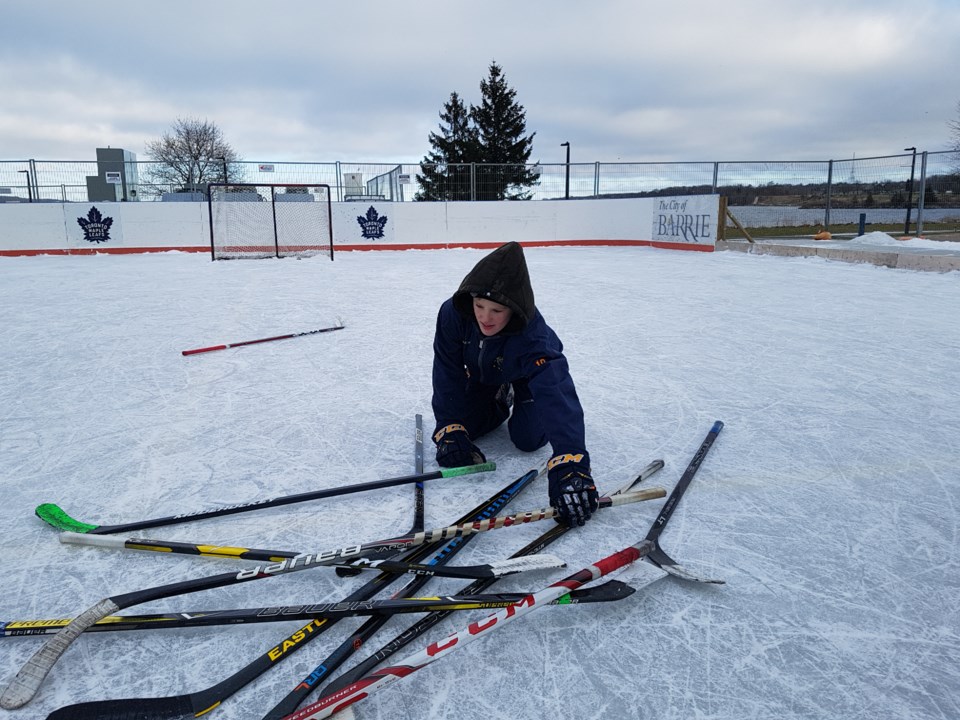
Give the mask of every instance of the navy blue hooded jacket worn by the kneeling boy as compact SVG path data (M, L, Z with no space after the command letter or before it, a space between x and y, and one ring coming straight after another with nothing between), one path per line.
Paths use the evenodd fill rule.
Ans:
M506 327L486 337L473 313L483 297L512 311ZM563 344L534 304L523 248L507 243L482 258L440 306L433 343L436 429L475 413L476 385L490 395L504 383L528 381L537 417L555 455L585 453L583 409ZM435 432L436 432L435 429Z

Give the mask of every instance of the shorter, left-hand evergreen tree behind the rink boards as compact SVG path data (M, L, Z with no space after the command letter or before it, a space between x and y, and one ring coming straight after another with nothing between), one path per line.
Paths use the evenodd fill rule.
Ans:
M457 93L450 93L440 120L440 134L430 133L433 149L420 162L420 190L414 199L469 200L470 164L478 159L477 131Z

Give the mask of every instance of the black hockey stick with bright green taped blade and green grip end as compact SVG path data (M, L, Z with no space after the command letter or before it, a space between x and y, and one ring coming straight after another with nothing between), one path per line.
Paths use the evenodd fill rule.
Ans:
M177 523L192 522L194 520L205 520L211 517L220 517L221 515L233 515L236 513L249 512L251 510L261 510L268 507L278 507L280 505L290 505L293 503L304 502L306 500L322 500L324 498L338 497L340 495L349 495L352 493L365 492L367 490L379 490L381 488L395 487L397 485L406 485L409 483L421 483L425 480L436 480L438 478L459 477L461 475L470 475L472 473L490 472L497 469L497 464L488 462L479 465L467 465L460 468L440 468L428 473L418 473L416 475L406 475L404 477L386 478L383 480L372 480L365 483L354 485L343 485L336 488L327 488L324 490L313 490L311 492L299 493L297 495L284 495L282 497L268 498L258 500L252 503L240 503L238 505L227 505L215 510L196 510L194 512L180 513L168 517L156 518L154 520L140 520L138 522L122 523L119 525L91 525L89 523L74 520L67 515L58 505L54 503L44 503L38 505L35 510L37 517L48 525L52 525L57 530L65 530L90 535L106 535L118 532L134 532L136 530L146 530L147 528L161 527L163 525L175 525Z

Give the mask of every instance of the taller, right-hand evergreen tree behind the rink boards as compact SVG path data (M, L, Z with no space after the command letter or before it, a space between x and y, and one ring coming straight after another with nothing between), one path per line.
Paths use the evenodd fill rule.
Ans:
M526 112L517 102L517 92L507 84L503 69L490 63L489 75L480 82L482 101L470 108L479 140L478 200L529 200L526 190L536 185L538 173L527 167L533 152L533 136L527 131Z

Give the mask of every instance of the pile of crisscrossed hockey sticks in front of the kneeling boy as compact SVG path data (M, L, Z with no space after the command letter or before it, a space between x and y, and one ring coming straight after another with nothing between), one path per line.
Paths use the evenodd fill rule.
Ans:
M610 581L596 587L584 586L586 583L603 575L607 575L614 569L633 562L640 557L646 557L649 561L678 577L701 582L715 582L697 577L675 563L660 548L659 535L670 515L673 513L680 496L685 491L687 485L689 485L693 474L699 468L706 452L722 428L722 423L719 421L714 424L714 427L707 435L707 438L694 456L693 461L691 461L690 466L678 482L673 493L665 503L663 510L654 522L653 527L643 541L625 548L619 553L615 553L598 563L594 563L594 565L589 568L585 568L565 580L554 583L544 590L534 593L485 593L484 591L491 583L495 582L497 578L505 575L527 570L562 566L563 563L559 559L539 553L550 542L553 542L566 532L567 528L565 526L556 525L552 527L551 530L544 533L537 541L515 553L514 556L507 560L482 565L457 567L448 566L446 562L478 533L553 517L554 512L552 508L538 509L513 515L497 515L523 488L529 486L529 484L538 477L541 477L542 471L534 470L527 473L506 486L486 503L478 506L470 513L465 514L454 524L434 530L424 530L424 481L438 477L454 477L456 474L449 471L438 471L438 473L435 474L425 474L422 472L421 423L422 419L420 416L417 416L416 475L407 478L378 481L379 485L377 483L368 483L363 486L346 486L347 488L353 487L356 489L346 490L346 488L339 488L335 493L347 494L348 492L371 490L375 489L374 485L390 487L403 483L415 483L416 508L413 527L409 533L384 540L358 543L323 552L301 553L290 550L258 550L213 544L166 542L130 537L121 538L112 535L117 532L132 532L148 527L159 527L194 519L214 517L219 514L246 512L247 510L258 509L260 507L271 507L290 502L319 499L319 497L330 497L333 496L333 493L330 495L305 493L300 496L270 499L244 506L233 506L231 508L203 511L200 513L184 513L156 520L112 526L98 526L75 521L58 508L55 508L55 506L41 506L41 508L43 508L42 510L38 508L38 515L45 521L54 524L55 527L64 531L61 534L61 540L64 542L123 549L153 550L164 553L180 552L194 555L212 555L234 559L260 560L263 562L253 568L247 568L237 572L224 573L205 578L195 578L170 585L149 588L147 590L114 595L101 600L72 620L61 618L55 620L16 620L3 623L3 627L0 628L0 636L43 634L52 635L52 637L27 661L20 672L13 678L4 691L2 698L0 698L0 706L4 708L16 708L29 702L39 690L44 678L53 668L54 664L77 637L87 631L142 630L148 628L210 626L291 619L309 620L307 625L291 635L287 641L277 645L275 648L271 648L271 651L255 660L246 668L243 668L240 672L235 673L234 676L207 690L187 695L171 696L169 698L129 698L124 700L80 703L78 705L61 708L49 716L50 718L75 718L79 720L89 720L93 718L99 718L100 720L113 718L119 720L120 718L128 717L196 717L221 703L226 697L229 697L254 678L273 667L276 662L279 662L290 653L299 650L311 640L319 637L325 629L331 627L341 618L355 615L369 616L369 619L352 638L345 641L330 658L318 666L309 676L304 678L296 686L294 691L284 698L284 700L266 716L266 718L272 720L277 720L285 716L297 718L326 717L356 702L360 697L366 696L372 689L390 684L402 675L412 672L412 670L409 669L404 672L398 672L396 668L401 666L394 666L393 668L387 668L372 674L368 673L369 670L372 670L373 667L417 637L425 629L436 624L440 619L455 610L502 608L498 613L490 616L489 624L490 628L493 628L504 624L508 619L526 614L543 604L574 604L619 600L631 594L633 589L617 581ZM647 488L641 491L633 490L633 486L637 481L649 477L662 466L662 461L651 463L651 465L640 474L637 480L628 483L622 488L618 488L616 491L604 497L601 501L601 507L614 507L630 502L666 496L666 492L662 488ZM493 469L492 464L486 464L484 466L474 466L473 468L463 469L457 474L481 472L490 469ZM377 570L379 572L363 587L339 602L285 607L246 608L239 610L201 610L186 613L158 613L154 615L114 614L120 610L131 608L151 600L275 577L281 574L319 566L341 567L350 571L360 568ZM412 573L415 577L407 586L394 594L389 600L374 600L373 596L396 579L400 573ZM473 582L462 592L455 595L443 597L416 596L415 593L433 576L468 578ZM356 647L366 642L366 640L383 625L386 619L397 613L407 612L428 614L413 626L414 629L404 634L405 639L403 641L394 641L384 646L381 651L378 651L368 658L367 661L356 666L350 673L341 676L335 685L328 687L318 703L304 708L302 711L297 711L297 708L305 700L306 696L318 688L321 682L328 679L330 674L335 671L346 657L348 657ZM416 628L422 629L417 630ZM479 637L479 634L484 633L468 633L471 639ZM453 643L449 649L452 649L453 645L458 644L462 644L462 642ZM278 651L278 648L282 648L282 650ZM430 657L429 662L433 662L445 655L447 651L448 648L428 647L424 652L428 653ZM413 669L418 669L422 667L423 664L426 664L420 663L416 658L411 659L411 662L413 662L414 665ZM411 662L405 662L402 666L409 668L412 666ZM368 674L363 675L363 673ZM291 713L295 714L290 715Z

